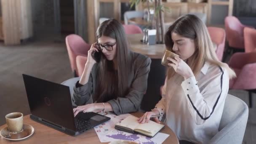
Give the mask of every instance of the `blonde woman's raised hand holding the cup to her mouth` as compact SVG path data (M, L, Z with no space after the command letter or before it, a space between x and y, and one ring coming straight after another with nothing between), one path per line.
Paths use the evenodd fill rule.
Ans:
M173 67L175 72L183 76L185 80L194 76L192 69L189 67L189 65L187 65L185 61L179 58L179 56L175 56L174 59L168 57L167 60L171 61L171 63L168 63L168 66Z

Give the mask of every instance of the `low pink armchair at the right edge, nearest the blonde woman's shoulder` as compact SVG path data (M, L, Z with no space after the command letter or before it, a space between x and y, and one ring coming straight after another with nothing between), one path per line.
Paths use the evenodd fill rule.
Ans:
M252 93L256 93L256 51L233 54L229 60L229 67L234 69L237 75L229 81L229 88L248 91L251 108Z

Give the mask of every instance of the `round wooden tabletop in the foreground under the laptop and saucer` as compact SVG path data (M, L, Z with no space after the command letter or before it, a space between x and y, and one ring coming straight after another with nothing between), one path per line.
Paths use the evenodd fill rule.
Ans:
M132 115L139 117L142 115L141 112L132 113ZM65 133L57 131L53 128L45 126L43 124L37 123L29 118L29 115L24 116L24 123L32 125L35 128L35 133L33 136L22 141L9 141L6 139L0 138L0 144L100 144L99 138L94 130L91 128L88 131L78 135L78 136L69 136ZM6 125L0 126L0 129L4 128ZM179 144L179 141L176 135L171 131L168 126L165 126L160 132L167 133L167 139L165 139L163 144ZM103 143L107 144L107 143Z

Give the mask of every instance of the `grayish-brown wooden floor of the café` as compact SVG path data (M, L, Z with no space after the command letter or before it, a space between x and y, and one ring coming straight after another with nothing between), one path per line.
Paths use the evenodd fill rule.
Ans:
M21 46L4 46L0 43L0 125L10 112L29 114L27 95L22 74L33 75L45 80L61 83L72 77L64 40L28 42ZM248 104L246 91L230 90ZM249 109L249 120L244 144L256 144L256 94L253 109Z

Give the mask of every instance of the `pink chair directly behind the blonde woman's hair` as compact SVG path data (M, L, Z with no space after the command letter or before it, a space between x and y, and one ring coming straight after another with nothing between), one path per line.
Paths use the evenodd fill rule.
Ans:
M225 39L226 39L226 33L225 30L219 27L207 27L208 32L210 34L211 40L213 43L217 45L216 48L216 54L218 56L218 59L222 61L224 48L225 48Z

